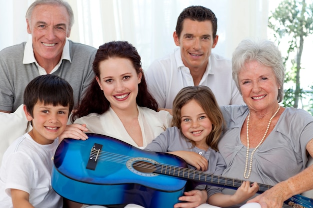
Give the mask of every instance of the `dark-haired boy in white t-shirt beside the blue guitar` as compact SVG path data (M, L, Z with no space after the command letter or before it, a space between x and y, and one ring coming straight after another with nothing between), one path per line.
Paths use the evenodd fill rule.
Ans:
M32 130L5 151L0 167L0 204L5 208L62 208L50 185L58 136L73 108L73 90L56 75L42 75L24 90L23 110Z

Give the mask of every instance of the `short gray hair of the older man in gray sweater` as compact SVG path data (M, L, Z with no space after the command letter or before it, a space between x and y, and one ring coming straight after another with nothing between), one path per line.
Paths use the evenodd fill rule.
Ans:
M70 29L71 26L74 24L73 10L71 9L70 5L66 1L63 1L63 0L35 0L32 4L30 4L30 6L28 7L28 9L26 11L26 15L25 15L26 19L28 19L30 21L34 7L37 5L43 5L43 4L64 6L67 10L68 17L69 17L68 28Z

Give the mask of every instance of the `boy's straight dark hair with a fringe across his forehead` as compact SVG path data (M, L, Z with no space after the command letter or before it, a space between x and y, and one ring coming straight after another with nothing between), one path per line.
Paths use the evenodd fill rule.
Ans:
M45 105L68 106L70 113L74 105L73 89L65 79L59 76L52 74L37 76L27 84L24 90L23 104L31 117L33 117L34 105L38 101Z

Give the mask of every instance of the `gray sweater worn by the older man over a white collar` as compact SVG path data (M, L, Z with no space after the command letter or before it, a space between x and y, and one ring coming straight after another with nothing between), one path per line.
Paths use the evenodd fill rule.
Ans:
M71 63L63 59L58 70L52 74L69 82L74 91L74 105L77 105L94 78L92 62L96 49L68 41ZM0 110L15 111L23 103L26 85L39 76L35 63L22 63L25 44L22 42L0 51Z

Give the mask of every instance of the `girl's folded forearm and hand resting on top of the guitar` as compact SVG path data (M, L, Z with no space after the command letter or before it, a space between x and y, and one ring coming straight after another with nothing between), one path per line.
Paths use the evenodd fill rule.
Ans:
M186 163L195 167L195 169L197 171L206 171L207 170L207 166L208 166L207 160L203 156L201 156L195 152L174 151L174 152L168 152L168 153L182 158Z

